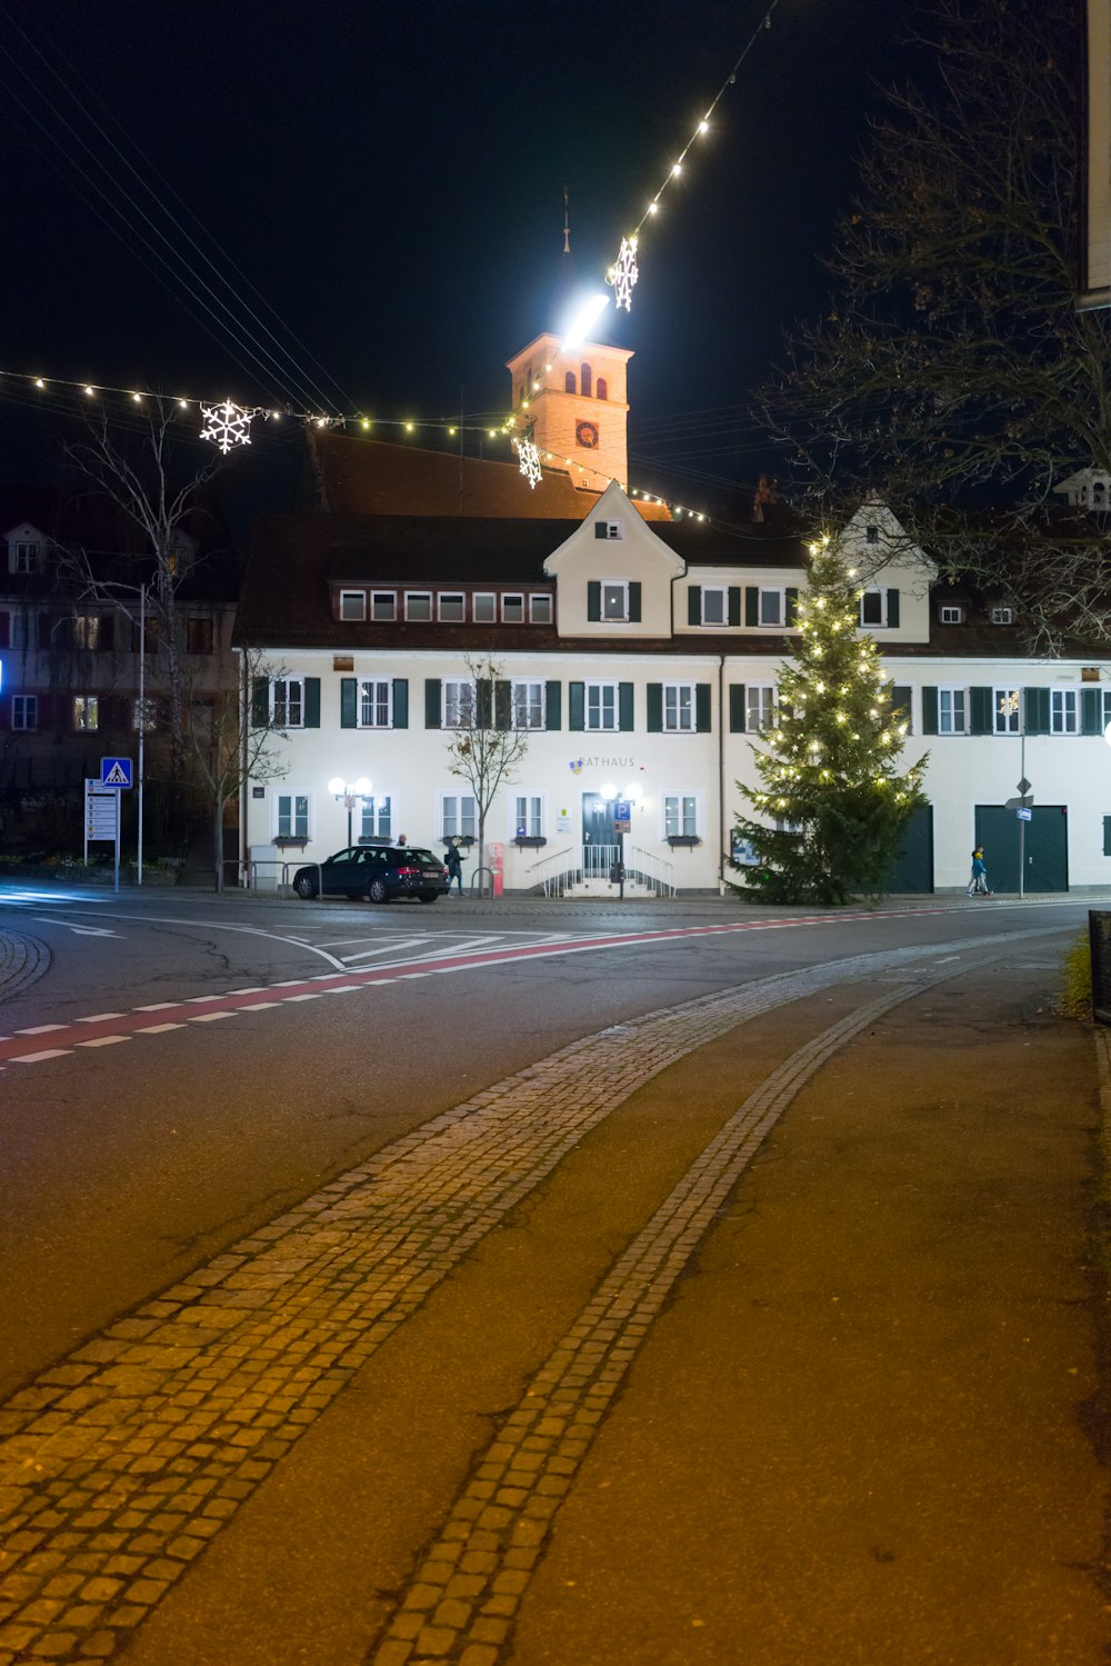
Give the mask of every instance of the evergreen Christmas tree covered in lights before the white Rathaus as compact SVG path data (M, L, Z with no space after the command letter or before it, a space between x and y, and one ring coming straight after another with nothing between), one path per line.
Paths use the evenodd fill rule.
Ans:
M746 896L770 903L844 903L876 895L913 811L923 805L919 758L896 770L906 723L891 708L876 643L858 635L859 590L828 540L811 545L800 596L795 663L780 671L778 718L755 746L760 786L738 781L760 820L736 835L756 855L735 863Z

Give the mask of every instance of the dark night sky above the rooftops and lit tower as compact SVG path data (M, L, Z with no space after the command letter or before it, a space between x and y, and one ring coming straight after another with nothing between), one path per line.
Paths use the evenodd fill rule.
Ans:
M605 287L766 8L0 0L0 478L40 478L63 428L28 375L380 418L503 410L503 362L560 323L563 188L576 277ZM913 63L906 15L780 0L668 187L633 312L603 332L636 353L633 483L700 506L776 466L751 390L780 332L823 308L871 80ZM220 302L233 323L203 312Z

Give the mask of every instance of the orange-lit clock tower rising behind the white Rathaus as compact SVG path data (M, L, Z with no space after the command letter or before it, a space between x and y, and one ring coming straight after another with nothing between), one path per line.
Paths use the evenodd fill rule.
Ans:
M531 420L545 466L566 470L583 491L605 491L611 480L628 491L631 357L621 347L580 342L565 348L558 335L538 335L508 360L516 431Z

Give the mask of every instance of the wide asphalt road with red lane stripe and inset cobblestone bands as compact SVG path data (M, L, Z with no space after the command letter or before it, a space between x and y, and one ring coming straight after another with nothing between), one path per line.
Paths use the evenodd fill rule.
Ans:
M47 1606L32 1603L33 1634L23 1611L0 1611L0 1663L18 1649L87 1659L117 1648L140 1666L1101 1659L1098 1583L1076 1571L1103 1554L1103 1476L1079 1416L1099 1391L1084 1308L1094 1061L1091 1041L1048 1011L1084 918L1078 900L815 918L718 901L373 910L0 896L0 1394L15 1451L40 1428L28 1416L57 1418L42 1436L52 1454L70 1446L52 1508L68 1499L80 1523L88 1486L65 1469L78 1463L77 1424L103 1429L113 1404L125 1423L143 1394L168 1393L142 1346L128 1353L160 1326L160 1358L185 1384L173 1416L193 1416L208 1391L193 1393L183 1324L212 1319L217 1283L232 1289L200 1338L205 1359L220 1354L222 1324L280 1291L277 1354L303 1359L305 1383L288 1413L301 1418L296 1443L272 1429L252 1448L265 1453L258 1474L220 1469L228 1508L200 1506L218 1543L202 1554L203 1514L195 1538L175 1516L165 1531L178 1549L148 1534L135 1554L153 1561L132 1566L120 1514L120 1531L102 1533L112 1544L85 1548L100 1554L83 1569L95 1589L37 1589ZM849 1028L818 1040L838 1025ZM781 1113L766 1121L761 1100L736 1156L703 1168L785 1061ZM969 1150L974 1173L963 1155L954 1166ZM668 1201L691 1165L703 1176L715 1163L723 1178L706 1186L720 1196L703 1196L700 1178ZM666 1220L693 1211L678 1250L665 1245L678 1271L660 1283L666 1254L651 1240L641 1289L621 1256L650 1228L665 1243L670 1228L651 1225L665 1205ZM358 1211L358 1233L343 1210ZM423 1218L435 1231L410 1268ZM348 1268L346 1246L363 1254L370 1226L381 1248ZM876 1259L878 1245L891 1254ZM328 1278L290 1294L286 1281L321 1254ZM340 1373L318 1341L340 1319L315 1304L341 1291L350 1321L348 1291L368 1291L383 1268L386 1293L363 1296L371 1338L365 1319L343 1331ZM511 1448L503 1419L511 1431L523 1418L523 1456L498 1458L523 1473L543 1441L520 1408L580 1391L566 1373L523 1384L568 1349L601 1358L616 1346L611 1316L603 1339L576 1333L615 1269L618 1386L606 1399L603 1371L578 1423L551 1414L566 1451L548 1454L548 1493L513 1484L490 1503L491 1441ZM400 1296L410 1276L416 1294ZM841 1301L856 1304L848 1336L830 1324ZM1016 1326L1044 1348L1023 1393L1003 1396L1008 1418L996 1389L1021 1376L1031 1346ZM270 1344L257 1351L275 1358ZM1074 1356L1076 1376L1058 1371L1058 1353ZM881 1433L893 1359L906 1389L894 1468ZM88 1386L98 1373L102 1394ZM43 1411L55 1381L73 1426ZM250 1424L252 1406L285 1406L286 1388L267 1378L227 1426ZM979 1438L988 1413L994 1451ZM591 1444L583 1429L595 1424ZM750 1438L738 1441L741 1426ZM148 1441L143 1424L133 1466L168 1486L187 1461L155 1466ZM190 1448L190 1461L208 1463L210 1446ZM861 1466L874 1484L858 1489ZM913 1531L908 1484L921 1493ZM112 1498L123 1511L123 1494ZM523 1526L501 1521L513 1509ZM983 1539L983 1511L994 1549L969 1578L959 1558ZM471 1529L473 1568L456 1568L465 1584L445 1596L436 1543L458 1551ZM498 1548L503 1529L521 1541Z

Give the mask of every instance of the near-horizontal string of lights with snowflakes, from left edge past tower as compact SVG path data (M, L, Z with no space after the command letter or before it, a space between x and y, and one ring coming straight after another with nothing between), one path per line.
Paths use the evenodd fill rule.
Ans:
M87 400L105 400L105 398L122 398L128 405L137 405L140 408L157 408L158 405L170 405L182 412L195 412L200 421L198 438L207 440L215 445L225 456L228 451L242 445L252 443L252 423L267 421L280 423L291 421L301 423L306 428L340 428L355 430L361 433L371 433L373 430L396 430L405 435L418 435L421 430L428 431L435 428L440 435L446 438L456 438L461 433L480 433L485 438L496 440L500 436L508 436L511 448L518 455L520 471L528 480L530 486L536 486L543 481L543 465L556 465L558 458L553 451L540 451L533 438L533 421L526 421L520 433L516 433L516 416L508 416L496 426L483 421L468 421L465 416L453 418L431 418L428 421L408 420L408 418L390 418L390 416L366 416L360 412L350 415L321 415L318 412L296 412L286 408L273 408L268 405L237 405L235 400L205 400L185 395L162 395L152 393L150 390L135 390L113 387L103 382L82 382L67 377L25 377L17 372L0 370L0 390L7 385L10 387L30 387L38 393L52 393L55 390L65 395L78 395L83 403ZM605 490L610 485L610 475L601 470L590 468L585 463L575 463L570 456L563 458L568 470L576 470L580 476L591 476L598 481L598 490ZM645 503L658 503L666 506L671 515L678 520L683 516L696 521L708 521L710 516L700 510L685 508L681 503L673 503L670 498L656 496L651 491L633 486L630 496L640 496Z

